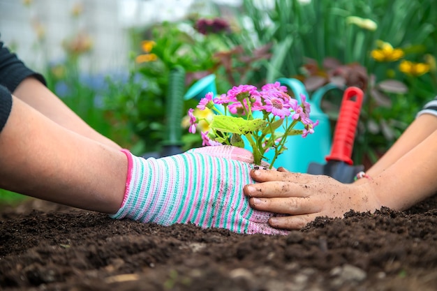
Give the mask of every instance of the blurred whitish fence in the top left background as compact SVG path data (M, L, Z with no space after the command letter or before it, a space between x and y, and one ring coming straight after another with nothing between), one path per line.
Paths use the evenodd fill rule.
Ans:
M81 58L89 73L126 70L128 28L183 17L201 0L0 0L0 40L36 70L65 57L64 40L84 33L92 50ZM226 4L239 0L214 1ZM74 16L74 11L78 12ZM43 33L44 37L41 37ZM40 37L38 37L40 36ZM117 73L117 72L114 72Z

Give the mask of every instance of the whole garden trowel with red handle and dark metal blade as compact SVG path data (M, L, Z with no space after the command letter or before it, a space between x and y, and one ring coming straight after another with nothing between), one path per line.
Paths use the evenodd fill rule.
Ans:
M310 163L307 171L309 174L324 174L341 183L352 183L355 175L364 170L363 165L353 165L351 158L362 98L363 92L357 87L348 87L344 91L331 154L326 156L325 165Z

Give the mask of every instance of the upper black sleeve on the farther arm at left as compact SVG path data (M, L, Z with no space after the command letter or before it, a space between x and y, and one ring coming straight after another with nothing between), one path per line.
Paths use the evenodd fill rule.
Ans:
M27 77L35 77L46 85L43 75L35 73L27 68L16 54L11 53L7 47L3 47L0 41L0 84L10 92L15 91L18 85Z

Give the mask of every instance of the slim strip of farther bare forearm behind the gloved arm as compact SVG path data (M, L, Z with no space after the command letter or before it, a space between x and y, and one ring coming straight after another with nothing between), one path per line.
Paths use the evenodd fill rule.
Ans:
M64 126L64 128L73 130L84 137L89 137L91 140L96 140L114 149L121 149L118 144L86 124L52 91L34 77L24 79L13 94L60 126Z

